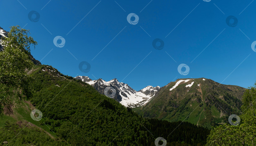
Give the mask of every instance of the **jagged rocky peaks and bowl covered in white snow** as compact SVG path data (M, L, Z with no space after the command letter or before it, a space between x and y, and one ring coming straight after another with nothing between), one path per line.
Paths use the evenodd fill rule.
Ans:
M135 91L129 85L119 82L117 79L112 79L108 82L103 79L92 80L87 76L77 76L76 79L92 85L101 94L104 94L106 87L113 87L116 90L114 99L126 107L145 105L160 89L159 86L147 86L140 91Z

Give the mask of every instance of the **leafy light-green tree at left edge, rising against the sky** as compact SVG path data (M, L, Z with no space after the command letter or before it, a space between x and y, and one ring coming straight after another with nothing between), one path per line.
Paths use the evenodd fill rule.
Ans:
M30 60L30 45L37 42L28 37L28 30L20 26L12 26L7 38L3 38L3 51L0 52L0 105L10 104L9 97L13 90L19 98L20 91L26 96L31 96L28 83L32 77L26 70L31 70L33 62ZM3 108L0 106L0 113Z

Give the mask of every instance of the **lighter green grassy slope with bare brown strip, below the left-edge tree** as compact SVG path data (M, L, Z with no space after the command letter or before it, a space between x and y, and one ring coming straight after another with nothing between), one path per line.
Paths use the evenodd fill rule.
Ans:
M38 66L35 67L35 70ZM1 96L1 94L0 94ZM44 119L35 121L31 111L35 107L29 101L11 97L11 104L4 105L4 113L0 117L0 145L68 145L51 133ZM50 134L51 133L51 134Z

